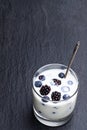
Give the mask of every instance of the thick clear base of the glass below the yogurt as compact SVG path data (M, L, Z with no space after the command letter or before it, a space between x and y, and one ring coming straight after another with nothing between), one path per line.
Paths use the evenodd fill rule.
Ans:
M65 118L63 118L63 119L61 119L61 120L49 120L49 119L47 119L47 118L44 118L43 116L41 116L41 115L39 115L37 112L36 112L36 110L35 110L35 108L33 107L33 109L34 109L34 115L35 115L35 117L36 117L36 119L39 121L39 122L41 122L42 124L44 124L44 125L47 125L47 126L51 126L51 127L56 127L56 126L62 126L62 125L64 125L64 124L66 124L70 119L71 119L71 117L72 117L72 115L73 115L73 113L71 113L69 116L67 116L67 117L65 117Z

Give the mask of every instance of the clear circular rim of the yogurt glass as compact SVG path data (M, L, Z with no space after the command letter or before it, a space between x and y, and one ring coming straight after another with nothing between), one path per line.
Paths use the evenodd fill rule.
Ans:
M46 97L47 95L40 95L40 94L35 90L35 88L34 88L34 77L36 77L36 76L35 76L36 73L39 73L39 71L41 71L41 70L43 70L44 68L49 67L49 66L62 66L62 67L67 68L67 66L64 65L64 64L51 63L51 64L46 64L46 65L40 67L40 68L34 73L34 75L33 75L33 87L32 87L32 89L33 89L33 90L35 91L35 93L36 93L40 98L42 98L42 99L43 99L44 97ZM53 68L53 69L54 69L54 68ZM72 96L71 96L70 98L68 98L68 99L66 99L66 100L63 99L63 100L60 100L60 101L53 101L53 100L51 100L51 99L44 99L45 101L49 101L49 102L52 102L52 103L60 103L60 102L69 101L69 100L78 92L78 89L79 89L79 79L78 79L78 76L77 76L76 72L74 72L74 70L73 70L72 68L70 68L69 71L71 71L71 72L73 73L74 77L75 77L76 80L77 80L78 87L77 87L76 91L72 94ZM43 72L43 71L42 71L42 72Z

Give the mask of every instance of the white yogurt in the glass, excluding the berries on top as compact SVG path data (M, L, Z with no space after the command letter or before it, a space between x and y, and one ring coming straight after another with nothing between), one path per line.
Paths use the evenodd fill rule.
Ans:
M51 121L57 121L68 117L72 114L78 93L78 79L73 71L69 71L66 78L59 77L59 73L66 72L66 69L51 68L40 72L37 76L33 78L33 101L34 101L34 112L40 118L44 118ZM45 80L40 80L39 76L44 75ZM60 85L55 85L53 79L58 79L61 81ZM35 82L40 81L42 85L40 87L35 86ZM40 89L42 86L48 85L51 91L46 95L49 97L47 102L44 102L41 95ZM52 92L60 92L61 97L59 101L52 101ZM69 99L64 99L64 95L69 95Z

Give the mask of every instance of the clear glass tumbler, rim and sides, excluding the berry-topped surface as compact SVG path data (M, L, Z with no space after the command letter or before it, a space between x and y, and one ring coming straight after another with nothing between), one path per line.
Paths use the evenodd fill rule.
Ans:
M64 100L61 99L60 101L52 101L51 99L45 99L45 102L43 102L43 95L39 94L37 92L37 89L35 89L35 79L46 70L54 70L59 69L62 71L66 71L67 66L62 64L48 64L43 67L41 67L39 70L36 71L33 77L33 110L34 115L41 123L47 125L47 126L61 126L65 123L67 123L72 115L73 111L76 105L76 99L78 94L78 77L76 73L70 68L69 72L71 75L75 78L76 82L76 89L75 92L70 96L68 99ZM66 81L66 79L61 79L62 82ZM68 79L67 79L68 81ZM43 82L43 81L42 81ZM63 86L64 86L63 83ZM72 87L71 87L72 88ZM64 92L65 93L65 92ZM68 93L68 92L66 92Z

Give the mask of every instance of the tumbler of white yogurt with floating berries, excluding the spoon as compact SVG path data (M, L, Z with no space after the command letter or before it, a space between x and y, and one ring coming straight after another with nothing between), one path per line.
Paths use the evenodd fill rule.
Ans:
M33 109L36 118L45 125L66 123L75 108L78 78L70 69L65 78L66 66L48 64L33 77Z

